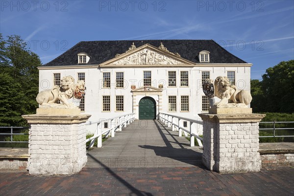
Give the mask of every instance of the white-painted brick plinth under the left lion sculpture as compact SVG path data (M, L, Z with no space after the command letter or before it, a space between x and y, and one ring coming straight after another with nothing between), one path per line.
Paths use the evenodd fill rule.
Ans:
M49 114L23 115L30 125L29 174L70 175L85 167L85 122L90 117L86 114L54 115L50 111Z

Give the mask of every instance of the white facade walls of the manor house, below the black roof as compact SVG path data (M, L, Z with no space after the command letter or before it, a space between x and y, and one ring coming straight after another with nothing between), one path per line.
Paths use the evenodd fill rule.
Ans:
M125 63L131 55L137 55L144 49L148 49L155 58L156 55L163 55L172 59L172 63L164 65L164 62L154 61L135 62L133 65ZM147 50L146 50L147 51ZM83 52L83 51L80 51ZM77 58L77 56L76 56ZM91 58L91 57L90 57ZM128 113L136 113L139 119L139 102L144 97L151 97L156 102L156 115L158 113L171 113L175 116L190 119L201 118L202 111L202 73L209 72L209 77L215 79L217 76L228 75L228 72L235 74L235 85L238 89L250 91L250 67L252 64L210 64L192 63L188 60L170 54L166 51L156 49L150 45L139 47L133 51L121 54L109 61L99 65L75 65L75 66L42 66L39 67L39 91L47 90L54 85L54 73L60 73L60 77L72 75L78 79L78 73L85 73L85 96L84 112L91 114L90 122L98 122L101 119L109 119ZM151 85L149 91L140 89L144 87L144 71L151 72ZM169 71L175 72L175 86L169 86ZM123 73L123 88L116 86L116 74ZM188 72L188 86L181 86L181 72ZM103 73L110 73L110 88L103 87ZM159 88L162 84L163 88ZM132 91L131 85L136 89ZM110 96L110 111L102 111L102 97ZM116 111L116 96L123 96L123 111ZM169 111L169 96L176 96L176 111ZM181 111L181 96L189 97L189 111ZM94 132L93 126L88 132Z

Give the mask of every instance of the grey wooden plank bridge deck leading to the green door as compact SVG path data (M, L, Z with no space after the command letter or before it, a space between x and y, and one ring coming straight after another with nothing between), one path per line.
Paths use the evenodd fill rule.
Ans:
M160 121L137 120L87 155L87 168L193 167L202 150Z

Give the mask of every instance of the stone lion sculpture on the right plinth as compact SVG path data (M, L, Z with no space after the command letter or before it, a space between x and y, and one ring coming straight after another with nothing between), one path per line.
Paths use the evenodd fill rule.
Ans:
M246 107L252 100L251 94L248 91L240 91L235 85L230 85L230 81L226 76L217 77L214 86L215 96L221 99L216 104L218 108Z

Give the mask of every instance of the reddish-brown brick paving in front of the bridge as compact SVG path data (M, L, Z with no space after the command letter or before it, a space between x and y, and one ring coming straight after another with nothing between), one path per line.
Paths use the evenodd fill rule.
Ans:
M294 169L220 174L202 167L84 168L71 176L0 172L1 196L293 196Z

